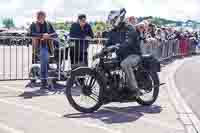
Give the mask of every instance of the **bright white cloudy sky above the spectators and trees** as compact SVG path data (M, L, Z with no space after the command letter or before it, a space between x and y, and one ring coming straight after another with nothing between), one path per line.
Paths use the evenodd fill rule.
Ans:
M38 10L53 21L105 20L110 10L126 8L128 16L158 16L173 20L199 20L200 0L0 0L0 18L13 17L16 25L33 21Z

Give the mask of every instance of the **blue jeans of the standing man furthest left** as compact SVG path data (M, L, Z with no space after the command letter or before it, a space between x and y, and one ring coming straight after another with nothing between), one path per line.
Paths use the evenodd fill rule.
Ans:
M49 52L47 47L40 48L40 67L41 67L41 80L48 78L48 63L49 63Z

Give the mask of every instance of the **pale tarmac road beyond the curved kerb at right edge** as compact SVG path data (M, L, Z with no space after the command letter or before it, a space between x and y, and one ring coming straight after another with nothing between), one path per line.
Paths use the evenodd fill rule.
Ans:
M200 56L186 61L175 74L176 86L200 118Z

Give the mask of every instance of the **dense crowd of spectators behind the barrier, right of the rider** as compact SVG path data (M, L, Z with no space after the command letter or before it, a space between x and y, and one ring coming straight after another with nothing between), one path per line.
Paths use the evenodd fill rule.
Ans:
M200 40L199 33L197 31L191 32L183 29L177 30L173 27L158 26L153 24L151 20L144 20L142 22L138 22L137 18L135 17L129 17L126 19L126 21L130 23L133 27L140 24L145 28L145 31L142 35L142 49L144 54L149 54L150 52L152 52L152 48L158 50L158 47L161 47L161 45L166 45L166 43L171 40L177 40L176 44L172 44L176 45L172 46L172 49L176 49L180 55L187 56L190 54L196 54L196 47L198 46ZM106 35L106 31L103 32L101 36L100 33L97 33L97 35L97 37L102 38L108 37L108 35Z

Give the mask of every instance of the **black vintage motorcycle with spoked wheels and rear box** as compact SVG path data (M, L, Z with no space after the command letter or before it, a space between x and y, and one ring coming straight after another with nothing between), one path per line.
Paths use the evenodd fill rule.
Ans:
M65 94L76 110L91 113L110 102L137 102L149 106L156 101L160 86L159 61L151 55L143 55L140 63L133 68L142 93L136 98L130 93L120 60L109 56L116 49L111 46L96 54L93 60L98 63L93 68L79 67L72 70Z

